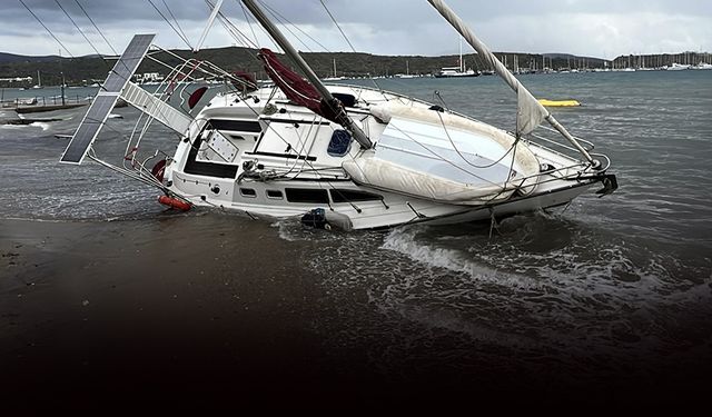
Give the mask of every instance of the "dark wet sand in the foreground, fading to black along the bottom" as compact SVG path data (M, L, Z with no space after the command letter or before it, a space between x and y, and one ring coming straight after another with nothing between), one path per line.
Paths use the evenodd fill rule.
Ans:
M589 383L577 384L578 375L545 351L528 365L506 349L463 351L435 366L407 358L378 363L374 351L400 342L395 332L403 329L395 325L393 337L378 340L335 342L325 329L335 322L348 328L348 314L376 322L378 312L354 294L344 314L318 272L301 264L318 242L277 235L267 222L210 215L0 220L3 394L20 411L442 410L472 403L634 405L640 395L650 404L666 398L651 395L666 393L676 401L702 398L705 389L704 366L671 379L664 373L620 379L635 373L631 364L596 381L586 358L575 371L587 373ZM330 327L320 326L327 319ZM448 346L441 351L456 351L456 338L442 340Z

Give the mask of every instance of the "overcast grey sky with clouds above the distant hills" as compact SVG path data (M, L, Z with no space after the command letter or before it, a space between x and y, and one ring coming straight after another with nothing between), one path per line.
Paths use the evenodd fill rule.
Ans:
M77 2L85 7L117 50L132 33L158 33L164 48L188 48L149 0L23 0L72 56L95 53L57 1L101 53L110 48ZM196 46L210 10L205 0L151 0L164 16L178 20ZM357 51L376 54L457 53L458 37L425 0L323 0ZM216 2L216 0L212 0ZM319 0L264 0L298 27L299 50L349 51ZM712 52L712 1L709 0L446 0L495 51L567 52L612 59L627 53ZM0 0L0 51L20 54L68 52L52 39L20 0ZM168 4L169 10L166 9ZM246 23L237 0L222 7L230 21L260 46L271 47L259 28ZM176 26L176 23L174 23ZM301 31L314 38L310 40ZM204 48L240 44L218 21ZM465 51L471 51L468 47Z

